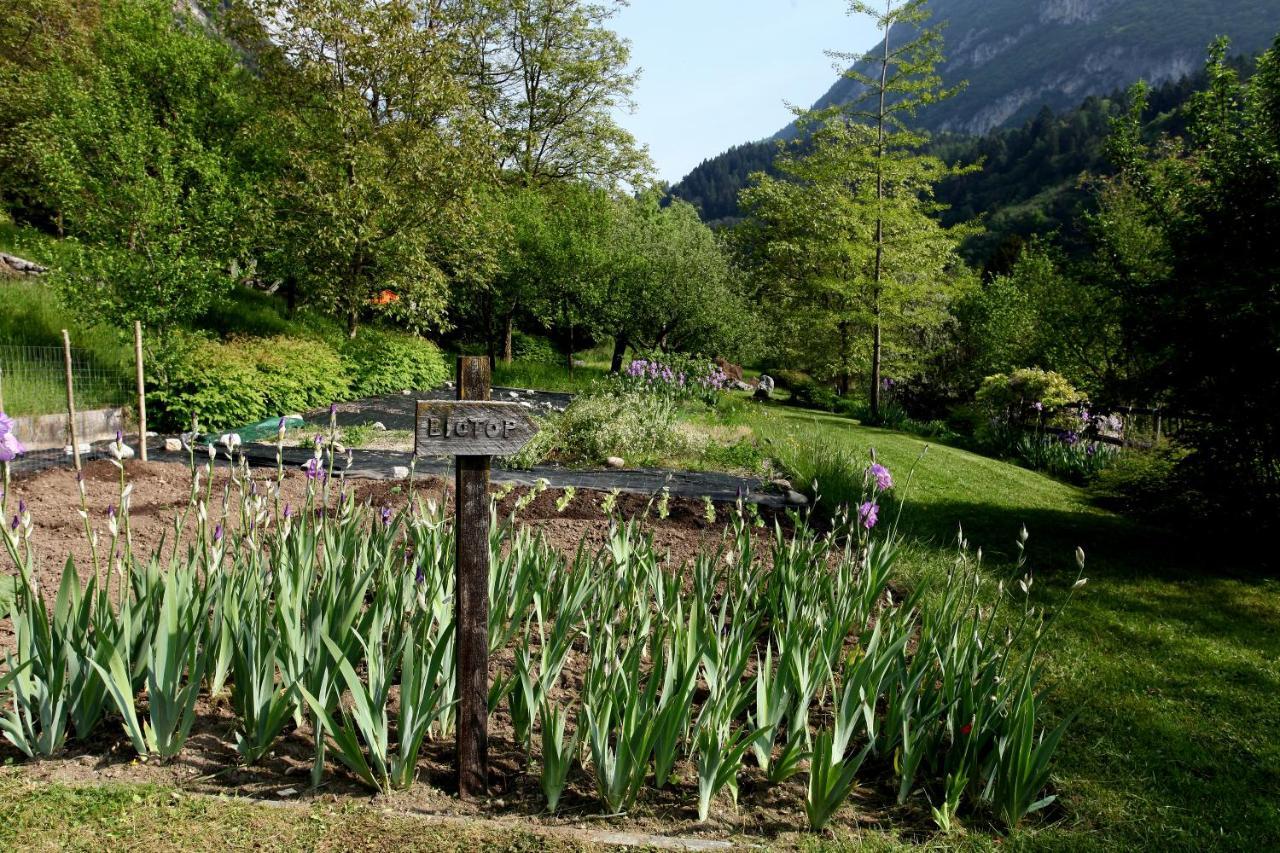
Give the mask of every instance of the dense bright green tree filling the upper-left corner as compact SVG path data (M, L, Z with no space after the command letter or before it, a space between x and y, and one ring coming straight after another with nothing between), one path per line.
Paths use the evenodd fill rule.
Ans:
M63 245L95 320L193 319L246 269L262 175L252 79L164 0L15 0L0 46L0 173ZM9 12L6 10L6 15Z

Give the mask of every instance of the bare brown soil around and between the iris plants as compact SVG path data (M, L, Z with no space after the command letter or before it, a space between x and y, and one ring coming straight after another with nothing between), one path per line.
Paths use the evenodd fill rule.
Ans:
M173 543L173 520L187 505L191 492L191 476L184 465L173 462L127 462L127 475L133 483L132 498L132 537L137 553L150 553L164 543ZM215 471L214 503L220 501L220 493L227 487L229 469ZM257 469L256 480L262 485L274 480L275 473ZM91 525L105 540L108 507L119 502L119 471L105 461L95 461L83 473L88 494ZM337 492L342 487L334 484ZM360 501L374 506L398 507L408 500L406 483L393 482L352 482L347 488L356 491ZM46 470L31 476L17 479L12 497L26 501L36 526L35 540L38 546L38 580L49 590L56 588L61 569L68 555L74 560L82 578L92 574L90 548L84 537L83 521L79 516L79 496L76 474L70 470ZM284 498L301 503L306 491L306 480L297 471L285 475ZM448 506L452 484L440 478L420 479L413 487L415 494L424 500L434 500ZM507 494L500 510L512 511L515 502L527 489L518 488ZM572 555L580 547L594 549L605 540L605 515L600 508L604 497L599 492L579 491L572 502L563 510L556 507L562 492L547 489L520 512L522 523L540 530L558 549ZM617 512L623 517L643 515L649 500L644 496L617 496ZM705 506L700 501L672 497L669 514L658 519L648 515L646 526L652 532L659 553L667 555L669 565L676 567L690 561L698 552L716 549L724 534L724 517L730 507L719 507L717 524L705 519ZM212 512L214 510L211 510ZM772 528L772 510L762 508ZM778 520L788 524L782 515ZM234 526L233 521L229 521ZM191 535L192 523L188 521L184 538ZM762 532L762 535L765 532ZM762 546L765 543L762 542ZM767 547L763 548L767 553ZM10 566L5 567L12 571ZM9 646L8 620L0 624L0 643ZM490 678L503 674L511 665L511 653L502 652L490 661ZM571 656L564 670L561 690L564 695L576 692L581 683L582 666ZM183 752L169 762L142 762L137 758L128 738L115 724L100 726L95 738L88 742L70 742L60 757L45 761L27 761L6 743L0 745L0 760L23 763L23 774L32 780L65 783L156 783L175 785L184 790L246 795L257 798L370 798L367 789L352 781L346 770L337 762L326 768L326 781L316 790L310 789L311 757L314 754L311 731L303 725L285 730L274 751L257 766L242 767L234 748L236 719L227 698L201 698L198 720ZM0 742L3 743L3 742ZM485 816L499 820L531 820L543 825L590 825L600 829L611 827L660 833L675 835L703 835L739 840L754 838L772 843L787 844L796 841L803 834L805 818L803 812L804 783L794 777L782 785L769 785L763 774L748 767L741 775L741 798L736 809L722 798L712 817L705 824L696 821L696 771L685 763L677 767L678 781L662 790L648 790L637 808L626 816L602 816L599 802L591 789L590 777L581 770L571 776L564 792L559 813L554 817L543 813L543 799L538 783L538 766L529 765L526 756L515 742L511 720L506 704L490 717L490 786L492 797L484 802L463 802L451 794L453 789L453 744L452 742L428 743L420 762L419 784L411 790L378 798L380 806L413 813ZM865 767L867 789L855 792L850 807L842 812L842 825L846 830L855 827L878 827L892 824L899 830L910 831L918 827L928 833L928 817L916 806L897 807L887 800L882 792L887 785L879 784L878 776L888 776L890 768Z

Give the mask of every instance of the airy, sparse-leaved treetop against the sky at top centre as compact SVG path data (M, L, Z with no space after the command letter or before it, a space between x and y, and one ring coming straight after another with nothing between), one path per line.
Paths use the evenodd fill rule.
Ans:
M530 184L640 183L648 154L613 119L630 105L637 73L608 28L617 4L484 0L484 26L467 65L493 127L498 164Z

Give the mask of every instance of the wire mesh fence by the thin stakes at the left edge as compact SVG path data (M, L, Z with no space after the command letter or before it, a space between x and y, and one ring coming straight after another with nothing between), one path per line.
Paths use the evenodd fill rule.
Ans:
M127 429L131 387L119 365L100 364L88 350L72 347L70 361L77 437L83 450ZM27 447L14 470L73 462L63 347L0 343L0 409L14 419L14 433Z

